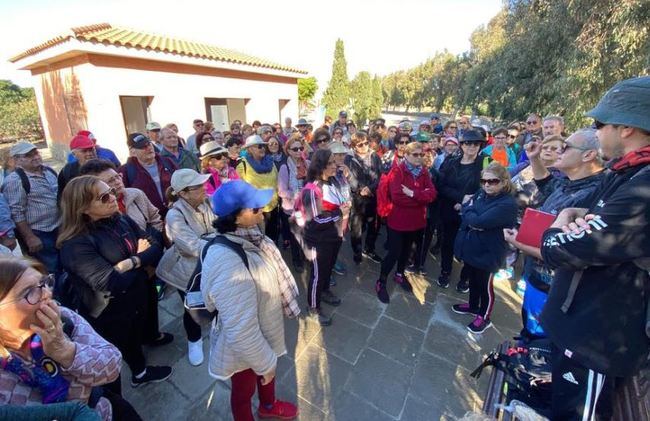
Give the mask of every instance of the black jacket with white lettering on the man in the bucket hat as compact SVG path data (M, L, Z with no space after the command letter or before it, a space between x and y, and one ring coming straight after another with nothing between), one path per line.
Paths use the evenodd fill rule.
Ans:
M587 368L634 375L648 356L650 171L608 172L589 198L591 234L544 233L542 257L556 270L541 323L553 343ZM641 172L642 171L642 172Z

